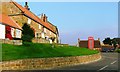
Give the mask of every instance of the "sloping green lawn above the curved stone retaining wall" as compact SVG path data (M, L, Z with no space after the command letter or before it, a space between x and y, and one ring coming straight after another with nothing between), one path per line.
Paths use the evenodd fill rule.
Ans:
M2 44L2 60L17 60L26 58L49 58L66 56L83 56L96 54L98 51L75 46L58 46L52 44L28 43L21 46Z

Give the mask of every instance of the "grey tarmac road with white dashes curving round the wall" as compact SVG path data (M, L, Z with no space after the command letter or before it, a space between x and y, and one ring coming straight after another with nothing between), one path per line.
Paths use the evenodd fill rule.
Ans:
M119 53L120 54L120 53ZM2 72L120 72L120 55L115 52L102 53L102 59L89 64L55 68L51 70L23 70Z

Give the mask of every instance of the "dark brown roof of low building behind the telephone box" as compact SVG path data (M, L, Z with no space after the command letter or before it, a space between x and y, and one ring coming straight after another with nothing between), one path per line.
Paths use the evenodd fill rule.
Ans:
M88 40L80 40L79 47L88 48ZM101 44L99 40L94 40L94 48L101 48Z

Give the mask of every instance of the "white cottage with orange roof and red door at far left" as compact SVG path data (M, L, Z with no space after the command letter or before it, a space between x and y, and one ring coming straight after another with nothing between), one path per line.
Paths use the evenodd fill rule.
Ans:
M22 28L8 15L0 14L0 39L21 38Z

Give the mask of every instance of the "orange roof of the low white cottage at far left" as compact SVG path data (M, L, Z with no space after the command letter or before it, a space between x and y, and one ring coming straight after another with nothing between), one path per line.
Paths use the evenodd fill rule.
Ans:
M22 30L12 18L5 14L0 14L0 23Z

